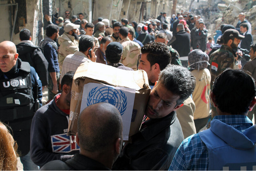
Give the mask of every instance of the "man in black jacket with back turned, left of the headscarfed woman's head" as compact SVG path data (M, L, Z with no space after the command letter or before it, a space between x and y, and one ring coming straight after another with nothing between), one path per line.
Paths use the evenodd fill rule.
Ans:
M190 35L184 30L183 24L177 25L177 33L174 34L176 40L171 44L180 54L180 57L188 56L190 52Z

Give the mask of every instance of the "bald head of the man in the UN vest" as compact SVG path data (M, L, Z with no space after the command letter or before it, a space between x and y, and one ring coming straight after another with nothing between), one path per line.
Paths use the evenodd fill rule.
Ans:
M4 41L0 43L0 69L6 73L16 64L19 54L14 43Z

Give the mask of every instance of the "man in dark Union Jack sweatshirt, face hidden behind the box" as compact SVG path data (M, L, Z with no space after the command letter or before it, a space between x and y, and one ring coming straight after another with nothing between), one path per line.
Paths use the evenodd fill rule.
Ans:
M66 73L61 81L61 94L37 110L30 134L32 161L43 167L52 160L65 161L79 153L75 136L67 136L71 87L75 72Z

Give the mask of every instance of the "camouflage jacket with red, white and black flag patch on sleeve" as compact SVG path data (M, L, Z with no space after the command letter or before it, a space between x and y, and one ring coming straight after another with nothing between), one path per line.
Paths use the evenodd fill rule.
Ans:
M215 78L225 71L226 68L235 67L235 53L234 51L226 46L221 45L220 49L213 52L210 56L210 73L211 73L211 89Z

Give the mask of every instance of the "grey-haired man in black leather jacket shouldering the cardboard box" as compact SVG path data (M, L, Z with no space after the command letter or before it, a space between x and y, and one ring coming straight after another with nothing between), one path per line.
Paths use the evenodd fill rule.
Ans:
M187 68L168 65L160 72L140 131L124 145L113 170L167 170L184 139L176 111L195 88Z

